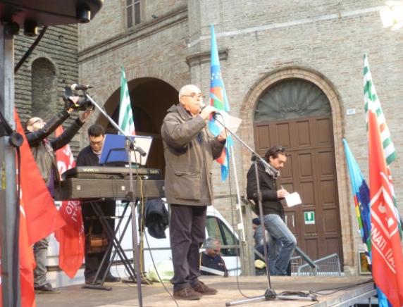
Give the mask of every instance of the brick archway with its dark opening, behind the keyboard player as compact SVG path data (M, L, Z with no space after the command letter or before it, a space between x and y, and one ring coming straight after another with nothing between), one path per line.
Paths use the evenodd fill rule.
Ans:
M165 161L160 132L162 121L166 110L178 103L178 90L186 80L180 79L170 71L150 67L128 68L125 69L125 75L134 111L136 134L151 135L154 138L147 167L163 171ZM114 79L102 92L104 98L100 97L99 100L105 101L104 110L118 123L120 78ZM116 128L110 125L101 113L98 113L94 121L104 126L107 133L116 133Z

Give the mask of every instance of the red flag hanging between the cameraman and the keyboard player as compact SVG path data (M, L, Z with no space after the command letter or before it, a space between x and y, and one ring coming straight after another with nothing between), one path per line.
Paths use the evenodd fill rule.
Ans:
M56 137L62 133L63 127L59 126L55 131ZM56 160L60 174L75 166L73 153L68 144L56 151ZM73 278L84 259L85 236L80 201L63 201L59 212L66 221L66 226L55 232L60 244L58 266L68 277Z

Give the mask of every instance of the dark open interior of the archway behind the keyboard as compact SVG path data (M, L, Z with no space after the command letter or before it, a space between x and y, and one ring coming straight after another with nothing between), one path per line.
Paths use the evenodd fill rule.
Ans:
M159 168L164 174L161 125L168 108L178 103L178 91L167 82L153 77L130 80L128 88L136 134L153 137L147 168ZM119 114L119 95L120 88L110 96L104 106L116 123ZM106 127L106 133L116 133L116 129L110 123L106 123L104 117L99 118L99 123Z

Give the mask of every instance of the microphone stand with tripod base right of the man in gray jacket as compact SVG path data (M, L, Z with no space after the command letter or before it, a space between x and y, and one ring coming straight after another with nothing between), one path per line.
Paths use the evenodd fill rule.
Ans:
M263 223L263 205L262 205L262 195L261 195L261 190L260 190L260 182L259 182L259 173L258 173L258 168L257 165L259 162L261 162L263 165L268 166L268 163L259 156L259 153L256 153L248 144L246 144L240 137L237 136L234 132L228 129L228 127L225 126L224 123L221 122L221 120L217 119L217 115L221 115L220 113L215 113L213 115L214 120L216 120L216 123L220 124L225 131L230 132L230 134L235 137L235 139L238 140L243 146L245 146L250 152L252 152L252 161L254 163L254 173L256 176L256 185L257 185L257 200L258 200L258 206L259 206L259 218L261 220L261 232L263 235L263 252L264 252L264 263L266 264L266 275L267 275L267 289L266 292L261 295L261 296L253 296L249 299L240 299L237 301L232 301L232 302L227 302L225 303L225 306L235 306L235 305L240 305L242 303L253 303L255 301L268 301L268 300L274 300L274 299L284 299L284 300L297 300L297 299L302 299L306 301L316 301L316 296L298 296L298 295L278 295L275 293L275 291L271 288L271 280L270 280L270 272L268 268L268 246L267 246L267 239L266 239L266 229L264 227ZM221 116L222 117L222 116Z

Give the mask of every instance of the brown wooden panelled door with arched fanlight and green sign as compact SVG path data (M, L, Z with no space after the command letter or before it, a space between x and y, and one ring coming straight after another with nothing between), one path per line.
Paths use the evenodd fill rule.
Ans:
M264 90L254 112L256 151L275 144L287 149L281 184L303 204L285 208L286 223L311 258L337 253L342 259L332 110L313 82L287 78Z

